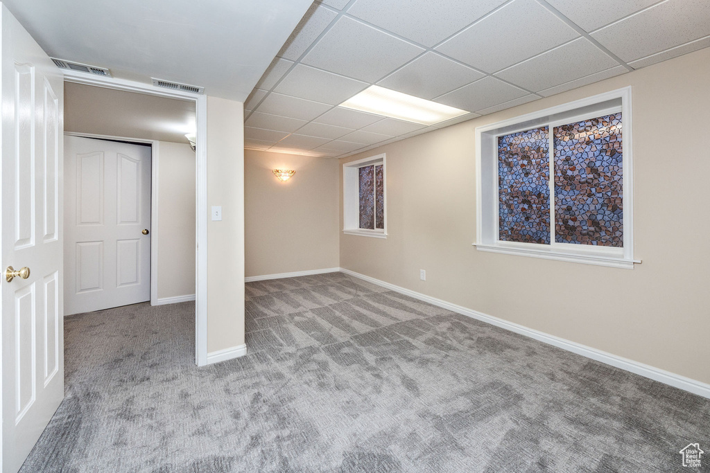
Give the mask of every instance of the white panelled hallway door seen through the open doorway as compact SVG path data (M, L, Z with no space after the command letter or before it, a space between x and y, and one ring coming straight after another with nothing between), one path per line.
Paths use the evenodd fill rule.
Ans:
M151 147L64 143L65 312L151 300Z

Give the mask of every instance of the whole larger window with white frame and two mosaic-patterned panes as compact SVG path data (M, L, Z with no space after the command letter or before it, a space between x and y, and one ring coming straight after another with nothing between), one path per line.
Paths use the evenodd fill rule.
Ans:
M481 251L633 269L630 89L476 128Z

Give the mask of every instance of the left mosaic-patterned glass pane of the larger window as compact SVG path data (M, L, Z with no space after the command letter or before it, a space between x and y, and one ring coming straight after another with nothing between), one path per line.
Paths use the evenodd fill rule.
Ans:
M498 239L550 244L548 128L498 138Z

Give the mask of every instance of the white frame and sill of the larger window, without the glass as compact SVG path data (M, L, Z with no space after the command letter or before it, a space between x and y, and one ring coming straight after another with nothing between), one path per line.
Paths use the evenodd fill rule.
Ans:
M550 245L498 240L498 137L610 115L621 111L623 133L623 247L555 242L554 147L550 146ZM476 250L633 269L633 126L626 87L476 128ZM552 142L551 142L552 143Z

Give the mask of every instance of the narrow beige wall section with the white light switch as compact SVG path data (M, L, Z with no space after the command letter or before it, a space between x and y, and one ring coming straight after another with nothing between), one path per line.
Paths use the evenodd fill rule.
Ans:
M222 206L222 221L209 209ZM207 352L244 345L244 106L207 97Z

